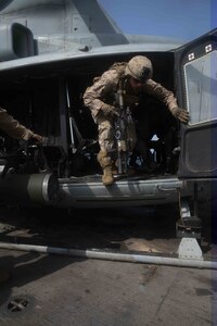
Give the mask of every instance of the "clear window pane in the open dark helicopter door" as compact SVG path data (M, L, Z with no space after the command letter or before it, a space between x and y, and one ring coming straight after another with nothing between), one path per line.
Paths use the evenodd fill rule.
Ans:
M206 53L184 66L190 125L217 118L217 51Z

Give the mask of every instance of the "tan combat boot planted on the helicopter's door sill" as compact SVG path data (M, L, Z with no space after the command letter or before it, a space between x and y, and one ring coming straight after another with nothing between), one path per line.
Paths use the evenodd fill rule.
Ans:
M112 173L112 160L107 156L107 152L100 151L98 154L98 162L103 170L102 183L104 186L114 184L114 177Z

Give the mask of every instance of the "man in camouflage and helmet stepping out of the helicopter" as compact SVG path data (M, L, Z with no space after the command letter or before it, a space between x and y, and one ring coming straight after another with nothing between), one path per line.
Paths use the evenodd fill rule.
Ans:
M114 183L112 173L112 153L115 150L115 121L119 116L116 105L117 92L124 89L125 105L139 101L141 93L157 98L165 103L171 114L187 123L189 113L178 108L174 93L152 79L151 61L143 55L133 57L128 63L115 63L100 77L94 78L93 85L84 95L85 105L91 110L92 117L98 124L100 152L98 161L103 170L102 181L108 186ZM127 128L131 150L137 142L135 125Z

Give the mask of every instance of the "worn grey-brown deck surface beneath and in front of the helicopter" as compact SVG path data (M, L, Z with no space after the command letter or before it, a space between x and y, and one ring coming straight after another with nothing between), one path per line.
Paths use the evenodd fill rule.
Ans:
M175 255L175 206L1 210L0 240ZM209 227L203 251L209 247ZM1 325L210 325L216 271L0 249ZM202 309L203 308L203 309ZM174 312L171 314L171 311Z

